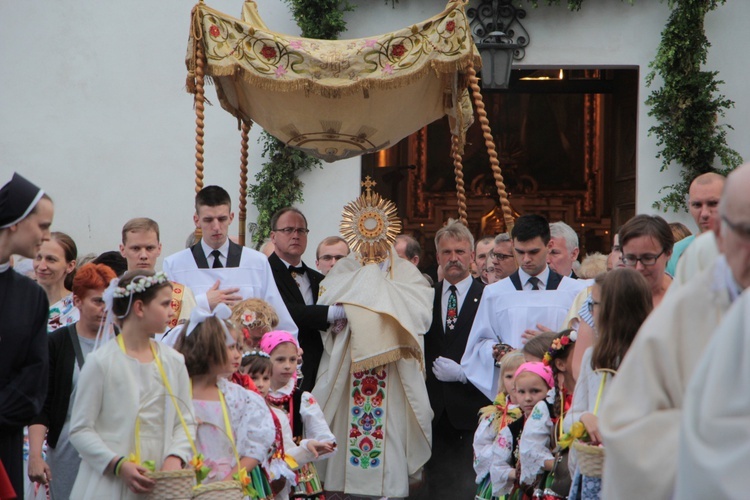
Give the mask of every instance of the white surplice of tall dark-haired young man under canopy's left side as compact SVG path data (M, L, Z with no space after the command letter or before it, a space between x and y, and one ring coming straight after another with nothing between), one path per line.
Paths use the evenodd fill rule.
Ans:
M294 324L279 294L268 259L256 250L242 247L239 267L200 269L191 249L186 248L164 260L164 272L170 280L190 287L201 309L210 310L206 292L217 280L221 282L219 285L221 289L239 288L242 300L263 299L274 308L279 316L278 329L297 336L297 325Z

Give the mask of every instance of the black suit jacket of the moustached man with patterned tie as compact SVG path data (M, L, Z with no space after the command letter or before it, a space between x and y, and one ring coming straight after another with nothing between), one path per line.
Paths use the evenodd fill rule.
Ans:
M490 404L482 392L471 382L441 382L432 373L432 363L439 356L461 363L466 349L471 325L474 323L482 298L484 285L473 280L466 298L461 305L456 320L456 328L445 333L445 324L441 313L444 281L435 285L435 300L432 307L432 325L424 337L425 361L427 363L427 393L430 405L437 422L443 412L447 412L451 425L459 430L474 430L477 427L477 413L483 406Z

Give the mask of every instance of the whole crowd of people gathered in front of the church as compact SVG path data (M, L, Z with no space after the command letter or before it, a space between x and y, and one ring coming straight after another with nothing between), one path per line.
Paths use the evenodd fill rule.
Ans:
M608 255L536 214L476 241L448 221L433 280L407 234L330 236L307 266L294 207L262 252L240 246L218 186L163 270L150 218L79 258L15 174L0 498L137 498L167 477L264 500L738 497L748 189L750 164L703 174L697 235L640 214Z

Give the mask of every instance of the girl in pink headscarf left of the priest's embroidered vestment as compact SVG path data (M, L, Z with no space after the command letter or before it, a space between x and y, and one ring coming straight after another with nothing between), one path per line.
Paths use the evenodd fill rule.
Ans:
M284 452L288 457L292 457L300 467L317 459L328 458L336 447L336 440L328 428L315 399L310 393L305 392L302 394L301 408L294 408L293 394L296 387L299 352L297 339L288 332L269 332L263 335L260 347L271 358L271 386L266 400L281 423ZM294 411L300 412L304 435L310 436L310 438L302 439L299 445L295 444L292 435ZM303 474L299 474L300 477L309 474L317 476L314 468L303 472ZM312 478L312 483L319 483L319 479L317 477ZM310 486L315 491L320 489L318 484L311 484ZM288 495L287 488L279 494L278 498L288 498L286 495ZM315 497L315 495L312 496Z

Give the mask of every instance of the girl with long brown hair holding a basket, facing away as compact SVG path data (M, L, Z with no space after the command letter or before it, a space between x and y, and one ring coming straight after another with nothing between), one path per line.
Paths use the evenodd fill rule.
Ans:
M643 321L653 309L648 281L633 269L618 268L600 274L594 281L588 307L594 317L594 345L586 349L581 361L573 404L566 415L566 427L580 422L591 445L601 445L598 409L606 396L613 372L630 348ZM627 314L622 314L627 311ZM578 424L577 432L581 432ZM574 434L571 429L571 434ZM575 450L569 463L573 474L571 499L598 500L601 478L583 476L575 463Z

